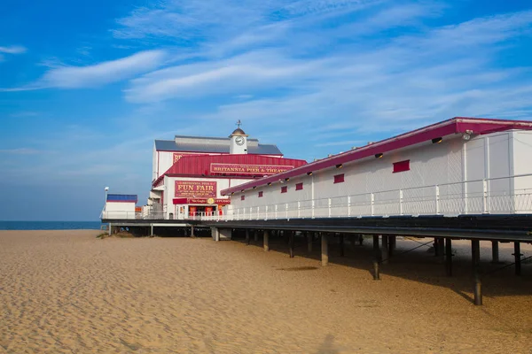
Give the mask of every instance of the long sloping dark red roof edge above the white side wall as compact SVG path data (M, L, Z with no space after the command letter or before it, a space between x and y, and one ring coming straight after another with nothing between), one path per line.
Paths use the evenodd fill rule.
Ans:
M263 186L269 182L292 178L305 173L317 172L334 165L346 164L361 158L402 149L419 142L427 142L434 138L446 135L460 133L483 135L510 129L532 130L532 121L455 117L453 119L444 120L440 123L435 123L431 126L413 130L409 133L396 135L380 142L373 142L372 144L365 145L356 150L350 150L334 155L331 158L324 158L284 173L278 173L257 181L240 184L238 187L223 189L221 193L223 196L226 196L232 192L238 192L241 189L251 189L254 186Z

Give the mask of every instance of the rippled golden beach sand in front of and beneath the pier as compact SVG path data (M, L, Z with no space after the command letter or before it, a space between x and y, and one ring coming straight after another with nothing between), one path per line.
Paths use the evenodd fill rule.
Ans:
M453 244L451 278L421 247L372 281L369 240L344 258L330 246L321 267L319 242L290 259L281 240L96 235L0 231L0 353L532 352L532 264L484 276L474 306L468 242ZM504 266L481 246L484 273ZM510 261L512 243L500 252Z

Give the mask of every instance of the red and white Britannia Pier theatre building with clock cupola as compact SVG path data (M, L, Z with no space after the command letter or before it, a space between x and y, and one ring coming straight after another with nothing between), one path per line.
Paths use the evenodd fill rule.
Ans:
M228 138L178 136L153 146L152 190L145 219L190 219L219 215L231 203L223 189L306 165L283 158L237 128Z

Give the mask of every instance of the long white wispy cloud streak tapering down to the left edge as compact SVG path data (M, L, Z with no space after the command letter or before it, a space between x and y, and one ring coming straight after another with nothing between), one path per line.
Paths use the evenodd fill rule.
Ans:
M106 61L88 66L52 67L43 77L34 83L4 91L30 89L79 89L93 88L111 82L129 79L139 73L146 73L159 67L166 56L164 50L146 50L126 58Z

